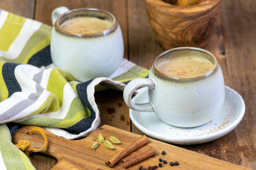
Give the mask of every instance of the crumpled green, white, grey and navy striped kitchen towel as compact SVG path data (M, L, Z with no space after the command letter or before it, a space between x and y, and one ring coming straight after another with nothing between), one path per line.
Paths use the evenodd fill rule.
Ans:
M100 125L94 92L124 90L149 70L124 59L109 78L77 82L54 67L50 54L52 27L0 10L0 167L35 169L11 142L20 127L36 125L66 139L89 135Z

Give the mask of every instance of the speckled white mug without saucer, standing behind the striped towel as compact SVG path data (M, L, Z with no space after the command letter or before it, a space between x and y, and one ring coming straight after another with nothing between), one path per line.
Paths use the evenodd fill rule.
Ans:
M71 18L97 17L113 24L100 33L78 34L63 30L60 25ZM124 57L124 40L116 18L109 12L66 7L52 12L51 56L54 65L68 71L76 80L108 77L116 71Z

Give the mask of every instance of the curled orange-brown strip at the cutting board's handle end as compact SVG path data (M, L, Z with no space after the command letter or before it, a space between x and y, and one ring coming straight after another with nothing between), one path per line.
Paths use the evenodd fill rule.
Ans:
M42 130L39 130L39 129L36 129L36 128L31 129L29 131L28 135L31 135L33 131L36 131L36 132L40 133L44 137L44 146L42 148L40 148L40 149L34 148L31 144L31 142L29 142L28 140L21 140L18 144L15 144L15 146L17 148L19 148L22 151L25 151L28 155L33 153L33 152L42 151L47 146L47 143L48 143L46 135L44 134L44 132Z

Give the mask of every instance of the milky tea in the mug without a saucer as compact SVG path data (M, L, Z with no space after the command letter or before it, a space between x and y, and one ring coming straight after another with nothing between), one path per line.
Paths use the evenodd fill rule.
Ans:
M112 25L109 20L96 17L77 17L69 19L61 24L65 31L78 34L99 33Z

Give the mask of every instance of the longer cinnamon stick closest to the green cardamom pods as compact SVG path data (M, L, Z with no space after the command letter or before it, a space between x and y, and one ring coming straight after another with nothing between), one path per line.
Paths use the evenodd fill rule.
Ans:
M131 144L127 145L122 151L118 152L115 156L113 156L111 159L109 159L105 164L109 167L112 167L116 164L117 161L124 158L126 155L134 151L135 149L138 149L143 144L146 144L149 141L148 137L146 135L143 135L142 137L136 139Z

